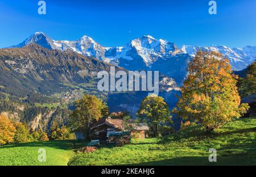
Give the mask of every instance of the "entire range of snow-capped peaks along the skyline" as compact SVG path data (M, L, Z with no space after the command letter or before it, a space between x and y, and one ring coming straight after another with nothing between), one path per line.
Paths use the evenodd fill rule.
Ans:
M82 36L81 39L75 41L55 41L43 32L36 32L13 47L23 47L31 43L37 43L48 49L61 51L70 49L84 56L93 56L129 70L159 69L164 74L172 73L171 69L179 71L174 66L183 68L183 65L190 60L189 58L195 56L199 49L221 52L229 58L233 70L245 69L256 58L256 47L252 46L241 49L229 48L224 45L212 45L210 47L183 45L179 49L174 43L162 39L158 40L149 35L131 40L122 47L104 47L88 36ZM181 65L176 65L175 62ZM166 68L166 70L163 71L162 68ZM172 75L169 76L172 77Z

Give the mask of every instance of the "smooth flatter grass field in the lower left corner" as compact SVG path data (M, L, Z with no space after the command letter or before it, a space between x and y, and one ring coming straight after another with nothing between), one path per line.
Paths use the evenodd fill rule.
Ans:
M86 143L77 143L76 147ZM38 161L38 150L46 149L46 162ZM0 165L63 166L75 155L72 141L42 141L0 147Z

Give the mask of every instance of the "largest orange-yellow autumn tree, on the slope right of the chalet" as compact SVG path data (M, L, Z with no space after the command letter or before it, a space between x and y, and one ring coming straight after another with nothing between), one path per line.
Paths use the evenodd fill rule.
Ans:
M240 104L228 59L218 52L197 52L188 64L188 75L174 112L183 120L200 122L207 130L221 128L248 109Z

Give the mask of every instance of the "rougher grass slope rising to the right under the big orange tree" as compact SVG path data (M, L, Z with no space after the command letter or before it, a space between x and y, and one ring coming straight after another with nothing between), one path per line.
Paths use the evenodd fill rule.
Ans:
M226 124L214 134L194 125L164 138L76 155L68 165L256 165L256 119ZM209 149L217 162L208 161Z

